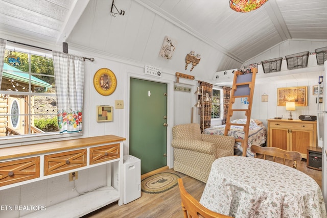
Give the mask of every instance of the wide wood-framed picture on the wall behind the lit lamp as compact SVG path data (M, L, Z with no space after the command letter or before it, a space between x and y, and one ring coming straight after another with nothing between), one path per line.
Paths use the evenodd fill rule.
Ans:
M286 102L295 102L295 106L308 106L307 86L277 88L277 106L286 106Z

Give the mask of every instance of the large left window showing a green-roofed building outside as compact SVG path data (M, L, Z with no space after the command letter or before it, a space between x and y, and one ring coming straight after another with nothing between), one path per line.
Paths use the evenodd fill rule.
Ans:
M0 88L0 140L58 133L51 52L7 44Z

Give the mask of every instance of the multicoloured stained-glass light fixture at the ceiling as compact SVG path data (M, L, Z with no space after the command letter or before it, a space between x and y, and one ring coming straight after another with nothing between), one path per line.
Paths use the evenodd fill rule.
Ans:
M260 8L268 0L229 0L229 7L236 12L250 12Z

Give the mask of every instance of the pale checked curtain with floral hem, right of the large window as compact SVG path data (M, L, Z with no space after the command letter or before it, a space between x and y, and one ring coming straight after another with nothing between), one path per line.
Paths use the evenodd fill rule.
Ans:
M59 132L82 131L83 57L53 51Z

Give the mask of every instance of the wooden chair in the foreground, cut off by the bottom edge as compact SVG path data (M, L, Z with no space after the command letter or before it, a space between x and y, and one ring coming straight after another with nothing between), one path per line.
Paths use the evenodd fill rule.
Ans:
M201 205L195 198L193 198L189 192L187 192L184 188L183 180L181 178L178 179L178 186L181 198L181 205L184 214L184 218L226 218L231 217L227 215L223 215L220 213L216 213L205 208Z

